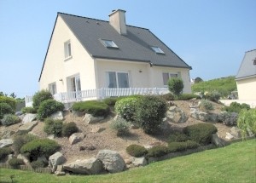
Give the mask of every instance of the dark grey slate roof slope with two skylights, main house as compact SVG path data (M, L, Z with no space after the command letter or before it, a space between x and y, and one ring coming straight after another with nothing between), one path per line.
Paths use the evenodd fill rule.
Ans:
M134 60L152 63L154 66L189 68L165 43L145 28L126 26L127 35L120 35L108 21L95 20L72 14L58 13L73 31L89 54L95 58ZM100 39L112 40L119 49L106 48ZM155 54L150 46L160 47L165 54Z

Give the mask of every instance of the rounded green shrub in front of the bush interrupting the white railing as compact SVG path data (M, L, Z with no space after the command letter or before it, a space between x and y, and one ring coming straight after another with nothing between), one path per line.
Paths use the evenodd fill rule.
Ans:
M49 117L51 114L63 111L64 105L53 99L44 100L38 108L38 119L43 120L45 117Z

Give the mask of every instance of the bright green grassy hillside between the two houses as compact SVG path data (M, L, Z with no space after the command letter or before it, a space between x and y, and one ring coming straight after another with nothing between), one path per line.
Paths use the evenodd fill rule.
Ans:
M192 92L212 92L217 90L222 97L228 96L232 91L236 89L235 77L222 77L212 79L205 82L195 83L192 85Z

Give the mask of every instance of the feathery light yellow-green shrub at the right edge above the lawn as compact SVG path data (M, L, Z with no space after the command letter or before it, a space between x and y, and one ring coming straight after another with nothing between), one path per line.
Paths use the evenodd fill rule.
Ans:
M241 110L237 119L237 127L241 129L243 138L247 135L248 129L250 129L253 134L256 134L256 109Z

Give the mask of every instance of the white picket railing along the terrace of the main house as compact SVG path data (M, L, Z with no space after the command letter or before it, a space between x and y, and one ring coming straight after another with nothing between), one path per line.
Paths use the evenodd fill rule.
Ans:
M79 92L54 94L54 98L62 103L80 100L102 100L108 97L128 96L132 94L167 94L167 88L125 88L125 89L86 89ZM32 96L26 96L26 106L32 106Z

